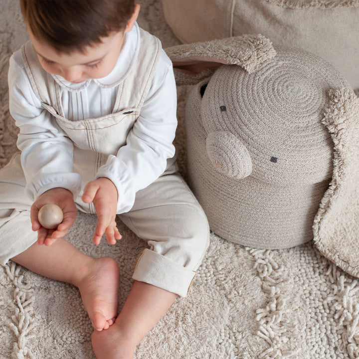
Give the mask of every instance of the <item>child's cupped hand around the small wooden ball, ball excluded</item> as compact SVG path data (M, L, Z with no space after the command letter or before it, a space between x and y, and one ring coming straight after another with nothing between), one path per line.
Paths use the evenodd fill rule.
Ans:
M46 229L38 221L38 211L47 203L57 204L63 212L64 218L55 229ZM51 245L56 239L62 238L74 224L76 219L76 205L72 193L65 188L52 188L42 193L32 204L31 211L32 230L37 231L37 243Z

